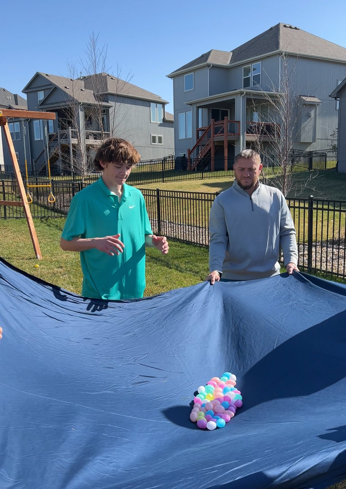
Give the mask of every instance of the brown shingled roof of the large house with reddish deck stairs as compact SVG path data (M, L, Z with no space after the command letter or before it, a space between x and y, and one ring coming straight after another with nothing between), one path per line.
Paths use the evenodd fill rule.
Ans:
M319 56L321 58L346 61L345 47L326 41L298 27L279 23L230 52L212 49L173 71L168 76L208 63L232 66L247 59L264 56L273 51L286 51L306 56Z

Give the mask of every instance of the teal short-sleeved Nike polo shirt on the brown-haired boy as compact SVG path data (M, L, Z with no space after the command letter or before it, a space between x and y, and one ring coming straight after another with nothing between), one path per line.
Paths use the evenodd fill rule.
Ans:
M122 199L111 192L102 177L71 200L61 237L70 241L103 238L120 233L125 245L119 255L98 249L81 251L84 297L135 299L145 289L145 235L153 234L142 193L124 184Z

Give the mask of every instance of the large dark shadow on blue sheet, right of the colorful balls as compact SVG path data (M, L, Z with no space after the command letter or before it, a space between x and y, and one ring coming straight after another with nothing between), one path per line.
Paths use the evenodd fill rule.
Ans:
M242 377L241 412L263 402L309 396L346 376L346 311L292 336ZM260 381L259 381L260 380Z

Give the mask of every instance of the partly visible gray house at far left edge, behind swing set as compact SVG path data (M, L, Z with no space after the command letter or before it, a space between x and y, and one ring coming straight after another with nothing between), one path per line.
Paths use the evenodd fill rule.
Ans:
M1 109L16 109L18 111L26 111L27 103L23 97L18 95L18 93L12 93L7 89L0 88L0 110ZM22 169L24 166L23 127L24 133L27 132L28 121L26 119L23 121L18 118L8 119L8 128L12 137L13 146L15 148L17 160ZM28 154L30 155L29 149ZM0 171L13 171L10 153L3 131L1 131L0 137Z

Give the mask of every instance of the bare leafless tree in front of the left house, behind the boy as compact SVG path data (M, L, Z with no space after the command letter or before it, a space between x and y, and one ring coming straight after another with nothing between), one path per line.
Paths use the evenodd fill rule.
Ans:
M107 52L107 44L100 46L99 35L92 32L79 66L70 61L66 63L70 81L64 112L73 145L70 144L69 158L64 159L63 167L70 168L82 181L93 169L96 143L117 132L126 137L123 121L128 109L123 109L121 101L128 94L128 82L133 75L128 73L122 80L122 70L117 65L117 76L113 76L111 67L107 66ZM109 92L112 93L110 102L105 100Z

